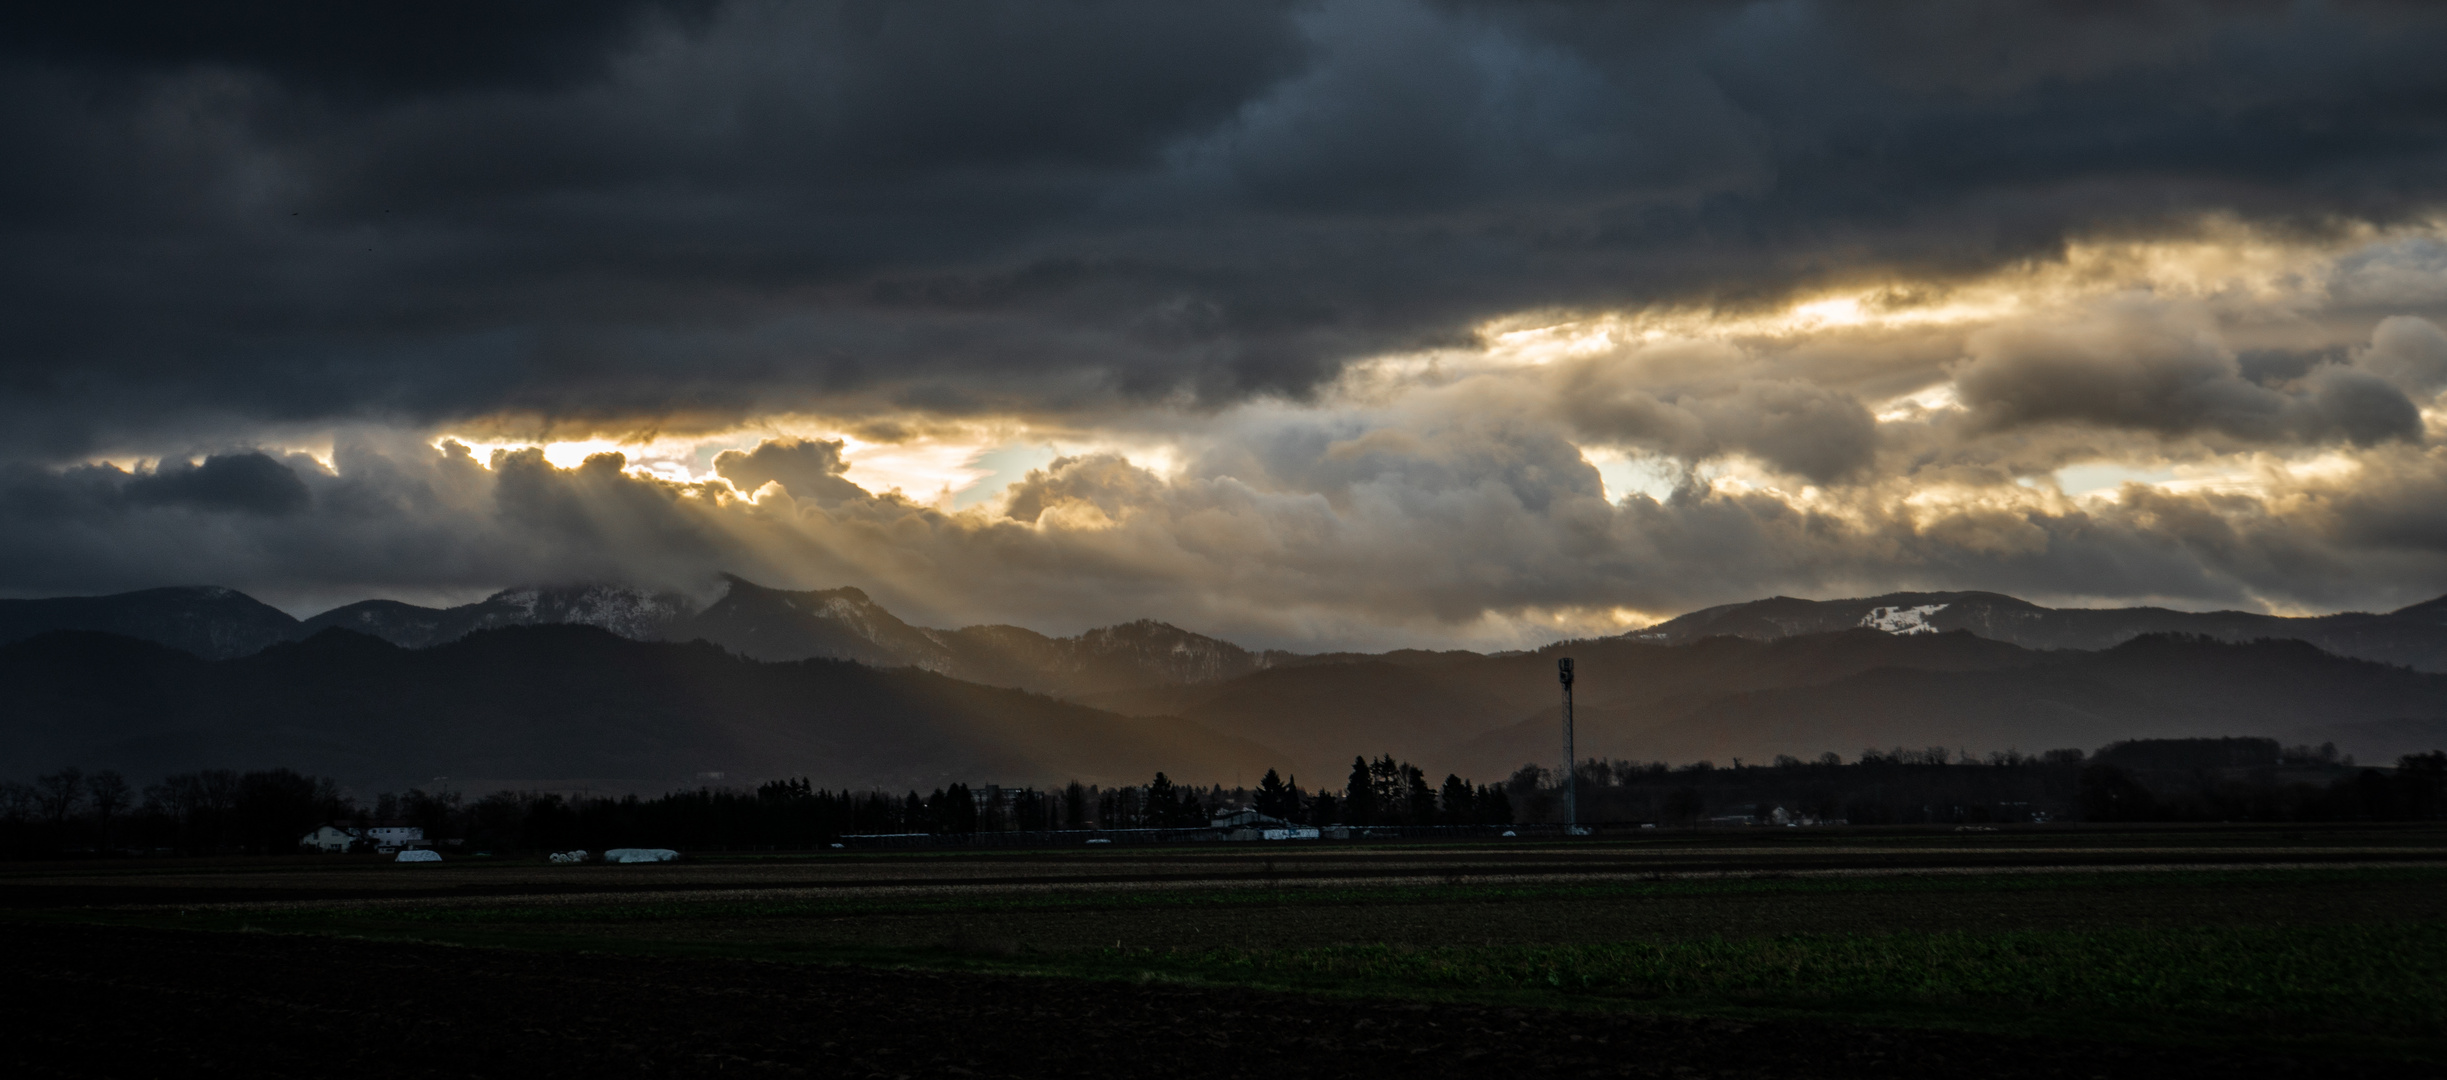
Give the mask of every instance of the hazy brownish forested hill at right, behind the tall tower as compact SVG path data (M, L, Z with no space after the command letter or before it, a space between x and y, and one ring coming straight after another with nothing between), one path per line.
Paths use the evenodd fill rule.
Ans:
M1931 744L2036 752L2193 735L2337 742L2376 762L2447 747L2447 676L2303 642L2170 634L2102 651L1877 629L1605 639L1512 656L1307 664L1091 700L1265 742L1302 776L1348 762L1341 747L1351 744L1439 774L1493 776L1554 764L1559 656L1578 661L1578 752L1605 759L1850 759L1867 747Z

